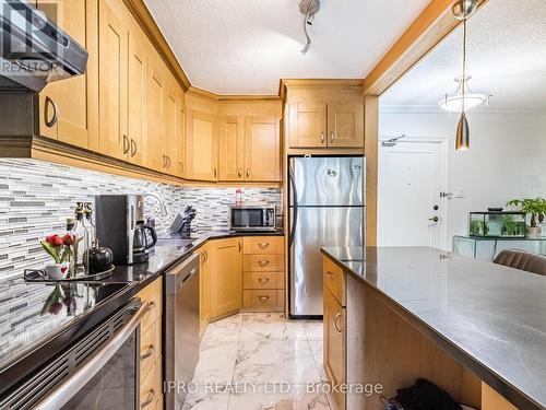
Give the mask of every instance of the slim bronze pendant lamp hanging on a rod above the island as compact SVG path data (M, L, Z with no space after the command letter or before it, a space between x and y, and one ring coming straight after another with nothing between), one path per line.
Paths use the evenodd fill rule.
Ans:
M451 11L455 19L463 21L463 75L466 79L466 20L476 11L477 0L459 0L453 4ZM461 118L456 126L455 150L463 151L471 148L471 131L468 120L466 119L466 110L464 106L465 87L462 87L462 112Z

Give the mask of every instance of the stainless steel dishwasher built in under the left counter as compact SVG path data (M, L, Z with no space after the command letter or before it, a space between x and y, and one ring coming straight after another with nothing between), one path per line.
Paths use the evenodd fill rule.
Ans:
M199 360L199 255L165 276L165 400L167 410L182 408Z

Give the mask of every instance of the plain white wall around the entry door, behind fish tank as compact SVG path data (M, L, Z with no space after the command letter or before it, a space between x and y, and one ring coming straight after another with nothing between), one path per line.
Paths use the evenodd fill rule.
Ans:
M459 117L381 110L379 134L448 139L448 248L468 231L468 212L505 207L520 197L546 197L546 114L468 114L471 150L455 151ZM381 204L379 204L381 206ZM380 227L379 227L380 229Z

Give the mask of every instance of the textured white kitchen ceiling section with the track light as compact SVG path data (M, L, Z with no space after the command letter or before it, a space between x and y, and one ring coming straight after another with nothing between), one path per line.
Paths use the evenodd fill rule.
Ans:
M282 78L364 78L428 0L321 0L307 56L299 0L145 0L192 85L277 94Z

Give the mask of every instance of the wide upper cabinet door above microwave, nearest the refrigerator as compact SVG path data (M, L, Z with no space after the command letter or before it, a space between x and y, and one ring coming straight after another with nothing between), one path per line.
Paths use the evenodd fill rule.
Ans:
M256 181L281 180L281 138L276 117L247 117L245 178Z

